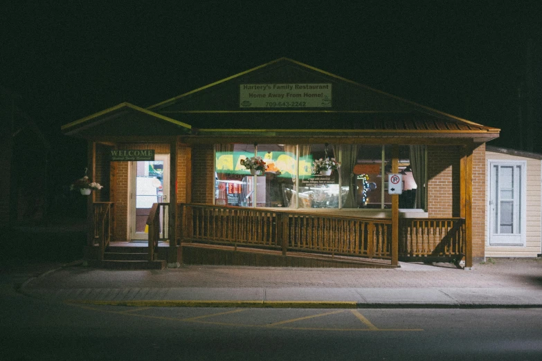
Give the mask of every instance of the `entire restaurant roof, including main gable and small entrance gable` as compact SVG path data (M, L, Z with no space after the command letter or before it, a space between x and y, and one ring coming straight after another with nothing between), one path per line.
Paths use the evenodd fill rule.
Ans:
M240 94L241 87L246 84L324 84L329 86L327 94L331 102L309 103L311 107L296 105L296 108L273 108L267 104L260 108L244 107ZM500 129L458 118L281 57L147 109L127 102L118 104L66 124L62 131L82 137L182 135L183 141L187 142L197 142L196 138L205 142L257 139L262 142L269 137L293 141L302 136L314 142L323 138L350 137L351 140L341 141L373 138L372 141L377 142L377 138L381 141L402 138L396 141L436 144L440 142L437 138L455 138L455 144L487 142L498 138Z

